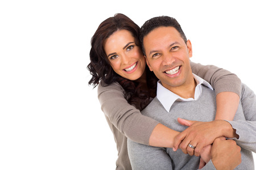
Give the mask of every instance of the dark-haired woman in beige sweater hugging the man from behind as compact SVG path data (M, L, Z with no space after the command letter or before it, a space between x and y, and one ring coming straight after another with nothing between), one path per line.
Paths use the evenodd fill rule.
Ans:
M126 137L144 145L172 147L179 133L139 112L155 97L158 79L146 65L138 37L138 25L127 16L116 14L100 24L91 41L89 84L99 85L98 99L117 143L117 169L131 169ZM240 79L215 66L191 66L194 74L216 90L216 119L233 120Z

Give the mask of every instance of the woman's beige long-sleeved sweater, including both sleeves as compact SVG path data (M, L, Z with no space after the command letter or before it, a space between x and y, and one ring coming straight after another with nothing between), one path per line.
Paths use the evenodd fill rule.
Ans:
M203 66L191 62L192 72L209 82L216 95L230 91L241 95L241 80L227 70L216 66ZM98 99L105 113L109 127L117 143L118 159L116 169L131 169L127 154L127 138L134 142L148 145L152 130L158 121L143 116L141 112L127 103L125 91L118 83L106 86L103 82L98 85Z

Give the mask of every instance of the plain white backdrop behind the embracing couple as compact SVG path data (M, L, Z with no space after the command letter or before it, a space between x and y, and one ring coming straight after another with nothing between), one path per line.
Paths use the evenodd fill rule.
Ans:
M139 26L176 18L192 61L232 71L256 92L254 1L1 1L0 169L115 168L86 66L90 38L118 12Z

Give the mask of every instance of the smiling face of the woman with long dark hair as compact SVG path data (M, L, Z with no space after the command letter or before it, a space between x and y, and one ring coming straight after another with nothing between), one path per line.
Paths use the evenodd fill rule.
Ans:
M123 78L137 80L144 73L146 59L131 32L115 31L105 40L104 50L115 73Z

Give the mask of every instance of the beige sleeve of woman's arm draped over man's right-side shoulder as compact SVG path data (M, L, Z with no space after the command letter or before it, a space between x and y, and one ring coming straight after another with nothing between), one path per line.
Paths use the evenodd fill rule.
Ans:
M215 90L216 95L220 92L234 92L241 96L241 80L236 74L213 65L201 65L191 62L192 72L205 79Z

